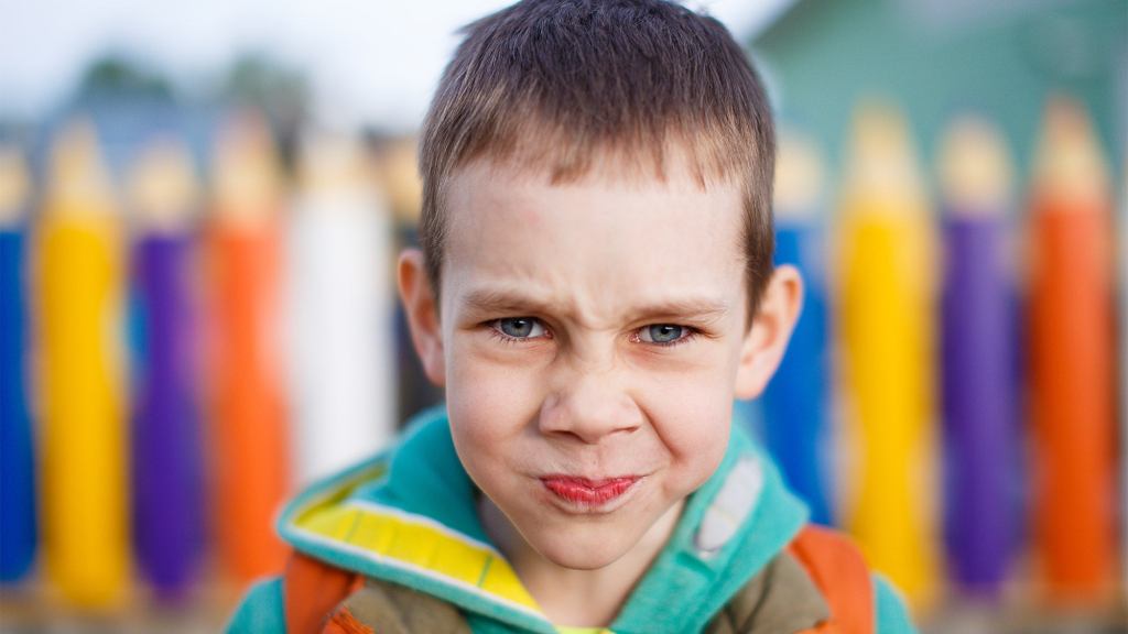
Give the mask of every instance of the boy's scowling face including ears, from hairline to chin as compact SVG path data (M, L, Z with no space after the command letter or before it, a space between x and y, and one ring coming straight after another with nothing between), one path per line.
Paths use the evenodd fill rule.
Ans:
M688 173L553 185L478 162L448 191L441 319L402 261L459 458L557 565L602 567L676 513L724 456L733 397L774 370L799 282L790 315L769 288L746 327L741 202Z

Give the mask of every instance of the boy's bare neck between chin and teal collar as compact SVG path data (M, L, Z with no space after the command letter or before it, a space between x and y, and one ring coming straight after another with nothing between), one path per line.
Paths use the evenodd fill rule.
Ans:
M478 514L486 534L549 622L570 627L608 627L673 532L682 504L668 510L623 556L594 570L570 569L544 557L485 495L478 503Z

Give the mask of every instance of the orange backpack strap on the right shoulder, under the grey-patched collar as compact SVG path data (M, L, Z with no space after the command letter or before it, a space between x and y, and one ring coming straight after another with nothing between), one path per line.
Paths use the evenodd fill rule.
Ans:
M787 549L807 569L830 607L830 620L814 632L874 632L873 578L861 551L849 539L828 528L807 525Z

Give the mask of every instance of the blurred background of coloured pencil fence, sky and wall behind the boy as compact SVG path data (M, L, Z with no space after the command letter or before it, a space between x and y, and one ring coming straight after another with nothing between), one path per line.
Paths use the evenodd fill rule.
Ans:
M0 0L0 629L212 632L441 399L415 133L504 1ZM716 0L808 282L737 413L926 633L1128 631L1128 3Z

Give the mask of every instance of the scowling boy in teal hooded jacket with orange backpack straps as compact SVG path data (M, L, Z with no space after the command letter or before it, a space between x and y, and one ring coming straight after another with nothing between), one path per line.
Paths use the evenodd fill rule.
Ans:
M291 503L287 572L231 631L911 631L731 423L802 290L772 267L768 104L719 23L661 0L488 16L420 164L399 289L446 407Z

